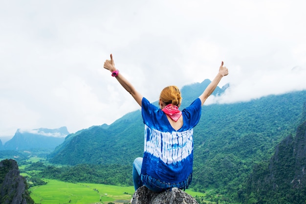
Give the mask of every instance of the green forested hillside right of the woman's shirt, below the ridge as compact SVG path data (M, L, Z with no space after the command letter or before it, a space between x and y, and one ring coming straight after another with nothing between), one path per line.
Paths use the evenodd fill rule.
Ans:
M295 133L305 101L306 91L299 91L204 107L195 128L195 187L237 192L253 165Z

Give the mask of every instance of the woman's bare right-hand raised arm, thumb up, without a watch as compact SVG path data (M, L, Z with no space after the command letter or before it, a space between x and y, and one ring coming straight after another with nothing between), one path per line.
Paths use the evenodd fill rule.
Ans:
M204 102L206 101L206 99L208 98L208 96L210 96L210 94L212 94L212 92L215 91L215 89L218 86L218 84L219 84L220 80L222 79L222 77L226 76L227 74L228 74L228 70L227 70L226 67L223 67L223 61L222 61L217 76L208 85L208 87L205 89L205 91L199 96L199 98L201 99L201 102L202 102L202 106L203 106Z

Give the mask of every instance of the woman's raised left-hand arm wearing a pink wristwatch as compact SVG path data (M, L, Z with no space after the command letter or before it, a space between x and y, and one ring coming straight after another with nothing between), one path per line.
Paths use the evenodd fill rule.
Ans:
M115 68L115 63L112 59L112 54L110 54L110 60L106 60L104 62L104 68L108 69L110 72L114 72L117 69ZM117 72L117 76L115 77L118 82L122 85L122 87L127 90L132 97L135 99L135 101L139 104L139 106L141 106L141 101L142 101L142 95L135 90L135 88L133 87L133 85L126 79L123 77L123 75L118 71Z

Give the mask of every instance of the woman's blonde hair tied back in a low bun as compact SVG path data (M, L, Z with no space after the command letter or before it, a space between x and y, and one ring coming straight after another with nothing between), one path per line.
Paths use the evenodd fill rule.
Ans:
M182 101L181 91L176 86L165 87L161 93L159 98L168 104L172 104L178 106Z

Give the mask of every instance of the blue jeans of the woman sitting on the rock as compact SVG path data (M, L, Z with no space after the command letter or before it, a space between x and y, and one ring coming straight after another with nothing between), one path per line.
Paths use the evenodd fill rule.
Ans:
M133 162L133 183L135 190L144 185L141 177L141 166L142 158L138 157ZM145 184L145 186L155 192L162 192L168 188L171 188L165 183L160 183L151 177L148 178L148 182Z

